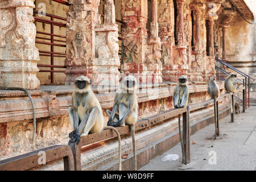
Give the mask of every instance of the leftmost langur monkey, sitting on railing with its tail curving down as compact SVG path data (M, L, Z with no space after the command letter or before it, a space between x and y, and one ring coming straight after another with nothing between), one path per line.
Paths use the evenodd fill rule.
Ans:
M72 94L72 107L68 108L69 121L73 131L69 133L71 142L78 144L80 137L89 133L98 133L104 129L112 129L118 137L119 166L121 171L121 137L117 129L104 126L104 117L100 102L90 87L88 77L79 76L75 81L75 89Z

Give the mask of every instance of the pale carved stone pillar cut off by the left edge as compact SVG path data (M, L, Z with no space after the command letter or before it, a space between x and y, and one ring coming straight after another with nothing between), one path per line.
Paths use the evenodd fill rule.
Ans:
M34 0L0 2L1 86L39 89Z

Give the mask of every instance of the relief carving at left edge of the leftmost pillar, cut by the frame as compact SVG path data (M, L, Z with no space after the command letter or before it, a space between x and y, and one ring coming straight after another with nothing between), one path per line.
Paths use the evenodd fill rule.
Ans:
M6 34L14 30L16 26L13 10L14 9L0 10L0 47L6 46Z

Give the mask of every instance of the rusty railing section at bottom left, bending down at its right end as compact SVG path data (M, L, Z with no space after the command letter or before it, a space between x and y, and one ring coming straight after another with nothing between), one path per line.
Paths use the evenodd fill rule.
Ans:
M24 171L40 166L42 165L38 162L41 157L38 155L40 151L45 152L46 163L63 158L64 170L74 170L74 159L71 148L69 146L57 145L15 156L14 158L1 160L0 171Z

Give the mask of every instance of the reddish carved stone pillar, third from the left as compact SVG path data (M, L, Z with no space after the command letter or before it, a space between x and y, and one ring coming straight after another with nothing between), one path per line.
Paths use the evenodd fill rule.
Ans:
M152 22L147 38L147 1L122 0L121 72L140 83L162 82L161 43L158 37L157 1L151 1Z

